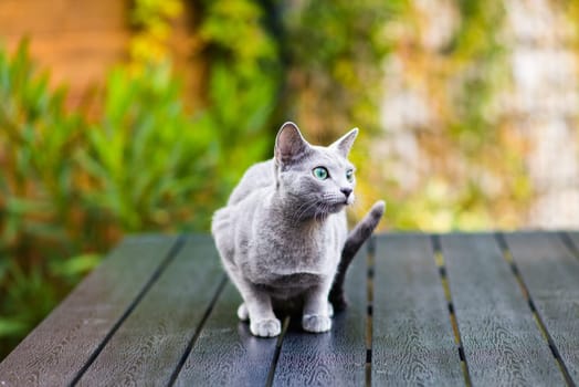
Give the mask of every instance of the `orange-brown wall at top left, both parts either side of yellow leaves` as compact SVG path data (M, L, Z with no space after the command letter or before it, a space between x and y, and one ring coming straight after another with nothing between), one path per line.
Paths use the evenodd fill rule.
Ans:
M131 0L0 0L0 43L14 50L23 36L52 85L69 86L78 106L115 64L128 60ZM194 33L192 7L172 23L168 50L183 81L189 107L203 105L207 64Z

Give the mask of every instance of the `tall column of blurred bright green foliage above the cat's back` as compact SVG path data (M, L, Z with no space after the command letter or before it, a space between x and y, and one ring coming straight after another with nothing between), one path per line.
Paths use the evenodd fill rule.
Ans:
M270 157L278 104L277 42L263 25L262 8L251 0L202 1L199 34L211 57L203 119L214 128L221 188L229 195L246 167Z

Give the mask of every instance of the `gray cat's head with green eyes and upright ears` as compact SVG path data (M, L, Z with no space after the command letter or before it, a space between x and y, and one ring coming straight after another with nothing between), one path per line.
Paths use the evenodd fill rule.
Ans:
M354 202L355 168L347 157L357 135L351 129L323 147L307 143L294 123L282 125L275 139L276 182L296 218L324 218Z

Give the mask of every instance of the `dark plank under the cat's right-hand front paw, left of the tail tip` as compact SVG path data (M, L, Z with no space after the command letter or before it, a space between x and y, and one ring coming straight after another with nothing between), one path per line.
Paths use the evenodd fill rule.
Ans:
M349 306L328 333L310 334L295 317L283 338L274 386L361 386L366 380L367 249L354 259L346 279Z

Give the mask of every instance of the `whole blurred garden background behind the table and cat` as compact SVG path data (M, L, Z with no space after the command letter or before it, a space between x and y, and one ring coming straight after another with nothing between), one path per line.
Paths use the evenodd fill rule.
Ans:
M572 0L2 0L0 359L123 236L209 228L295 121L382 230L579 226ZM130 273L127 273L130 275Z

